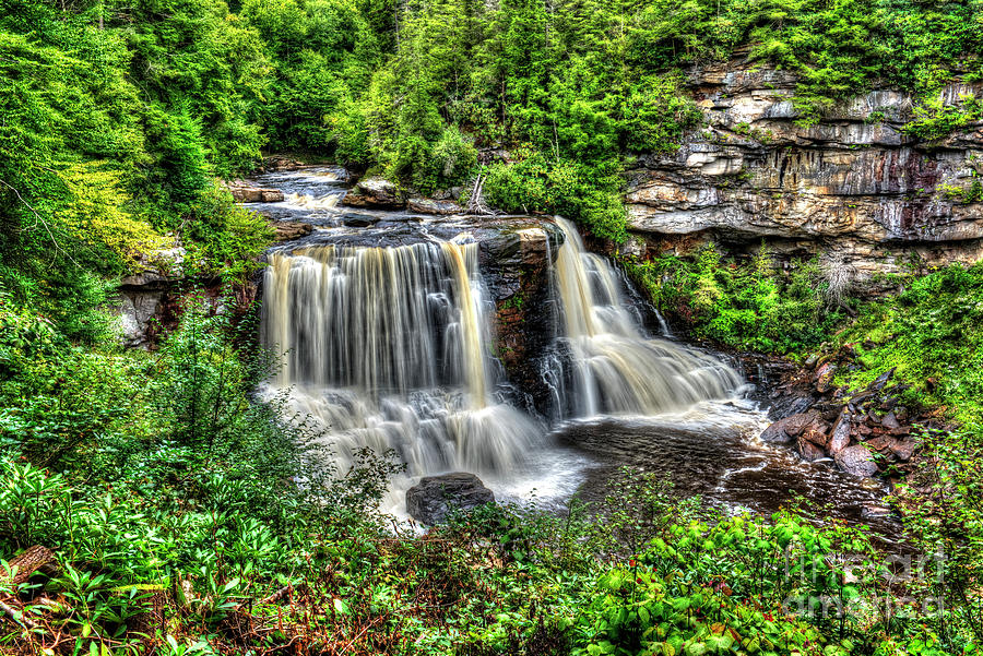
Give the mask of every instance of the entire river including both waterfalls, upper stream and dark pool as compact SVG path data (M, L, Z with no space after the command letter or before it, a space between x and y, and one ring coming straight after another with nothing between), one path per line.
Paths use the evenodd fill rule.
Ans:
M501 499L560 509L575 493L602 497L630 465L725 509L770 513L801 496L897 533L864 517L886 493L879 482L762 443L767 413L738 371L651 334L652 310L571 224L355 210L341 202L343 179L315 167L253 180L285 200L251 208L316 227L268 258L262 338L284 360L267 392L291 390L341 470L362 448L393 450L407 472L388 510L404 512L421 476L452 470Z

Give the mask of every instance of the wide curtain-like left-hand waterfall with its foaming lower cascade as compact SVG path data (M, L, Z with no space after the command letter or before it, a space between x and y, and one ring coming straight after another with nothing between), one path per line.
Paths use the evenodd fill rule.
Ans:
M368 446L395 450L408 476L494 476L544 432L494 397L474 243L273 252L264 295L263 342L285 354L273 387L293 386L292 409L328 428L342 473Z

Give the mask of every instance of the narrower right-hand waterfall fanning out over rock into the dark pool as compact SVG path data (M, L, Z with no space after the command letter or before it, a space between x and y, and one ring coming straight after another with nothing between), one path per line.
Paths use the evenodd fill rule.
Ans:
M725 398L741 385L720 360L646 335L615 270L584 250L569 222L557 223L566 236L553 272L561 315L545 378L558 418L656 415Z

